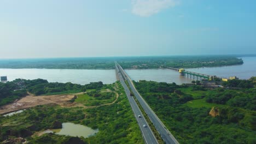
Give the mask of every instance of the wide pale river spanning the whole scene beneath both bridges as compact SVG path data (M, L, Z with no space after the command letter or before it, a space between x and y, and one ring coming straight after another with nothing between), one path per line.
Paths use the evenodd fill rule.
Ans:
M207 75L219 77L237 76L240 79L249 79L256 76L256 57L242 57L244 64L228 67L187 69ZM131 79L151 80L158 82L175 82L178 85L190 82L187 77L179 76L179 73L170 69L143 69L125 70ZM81 85L102 81L103 83L115 82L115 70L87 70L87 69L0 69L1 76L7 76L8 81L15 79L46 79L49 82L72 82Z

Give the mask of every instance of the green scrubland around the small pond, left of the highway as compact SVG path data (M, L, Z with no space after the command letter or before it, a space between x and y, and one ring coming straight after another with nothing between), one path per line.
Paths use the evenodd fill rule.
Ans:
M26 137L29 143L68 143L70 136L44 134L31 136L36 131L56 127L56 123L72 122L98 129L98 133L86 139L77 138L84 143L143 143L136 119L120 83L103 85L101 89L88 89L86 93L98 94L102 100L113 96L113 87L120 96L114 104L85 109L83 107L61 107L54 104L36 106L13 116L0 116L0 141L10 137ZM108 92L106 92L106 89ZM85 94L86 94L85 93ZM109 94L106 94L109 93ZM88 94L88 97L90 94ZM86 95L80 95L87 97ZM93 96L92 96L93 97ZM78 97L79 98L79 97ZM85 98L86 99L86 98ZM100 100L100 99L98 99ZM75 103L88 104L79 99Z

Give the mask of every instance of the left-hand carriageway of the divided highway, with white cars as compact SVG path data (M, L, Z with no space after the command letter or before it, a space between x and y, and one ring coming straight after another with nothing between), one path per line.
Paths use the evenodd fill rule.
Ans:
M141 129L142 135L143 135L143 139L146 143L152 143L152 144L158 144L158 141L156 140L156 137L154 136L152 130L150 129L145 117L142 115L141 110L139 109L135 99L133 97L130 96L130 89L127 87L126 83L124 82L124 74L120 71L119 67L117 67L116 65L116 69L117 69L117 73L118 73L118 78L121 82L121 85L124 87L125 89L125 93L127 95L127 98L130 102L130 105L132 107L132 111L135 115L135 118L137 120L137 123L139 125L139 128ZM138 115L140 115L141 117L138 117ZM143 127L143 125L146 125L147 127Z

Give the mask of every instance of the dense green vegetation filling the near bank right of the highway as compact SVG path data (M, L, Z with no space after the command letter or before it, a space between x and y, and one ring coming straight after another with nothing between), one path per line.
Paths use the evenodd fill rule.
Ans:
M175 83L134 83L180 143L256 142L255 88L210 90ZM214 100L207 103L209 98Z

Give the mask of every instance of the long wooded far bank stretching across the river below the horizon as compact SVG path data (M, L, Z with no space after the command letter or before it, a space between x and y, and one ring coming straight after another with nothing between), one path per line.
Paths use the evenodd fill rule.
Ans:
M235 56L162 56L162 57L98 57L8 59L0 61L0 68L45 69L114 69L118 61L125 69L198 68L243 64Z

